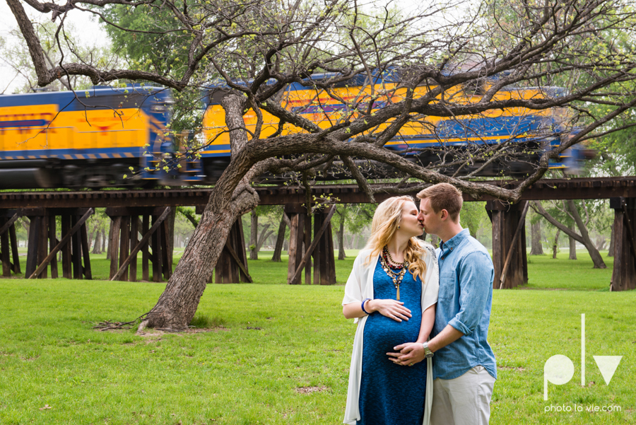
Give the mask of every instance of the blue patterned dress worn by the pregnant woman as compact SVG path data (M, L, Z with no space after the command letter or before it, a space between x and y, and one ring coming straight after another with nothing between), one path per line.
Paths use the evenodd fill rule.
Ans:
M396 298L393 281L379 261L373 293L377 299ZM420 333L422 281L419 277L413 280L408 271L400 284L400 301L411 310L413 317L408 321L396 322L373 313L365 323L358 425L421 425L424 419L426 362L399 366L387 356L396 345L415 342Z

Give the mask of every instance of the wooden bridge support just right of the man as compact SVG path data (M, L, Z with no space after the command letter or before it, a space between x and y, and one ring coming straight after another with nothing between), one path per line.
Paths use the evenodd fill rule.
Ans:
M488 201L485 208L493 223L493 265L495 267L493 288L512 289L527 284L528 257L524 226L527 201L512 205L503 204L500 201ZM502 272L504 272L503 275Z

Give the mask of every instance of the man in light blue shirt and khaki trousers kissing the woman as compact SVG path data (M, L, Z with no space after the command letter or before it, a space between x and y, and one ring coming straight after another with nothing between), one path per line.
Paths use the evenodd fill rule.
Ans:
M431 339L421 348L395 347L401 350L395 361L406 366L433 356L431 425L485 425L497 378L495 355L487 340L493 260L459 224L463 202L459 190L440 183L418 193L418 198L426 233L442 240L436 251L440 294Z

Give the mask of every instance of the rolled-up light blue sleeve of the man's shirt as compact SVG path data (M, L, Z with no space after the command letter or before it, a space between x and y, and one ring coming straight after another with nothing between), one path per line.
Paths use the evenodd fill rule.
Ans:
M471 334L483 316L493 282L493 266L485 252L471 252L459 267L459 313L448 324Z

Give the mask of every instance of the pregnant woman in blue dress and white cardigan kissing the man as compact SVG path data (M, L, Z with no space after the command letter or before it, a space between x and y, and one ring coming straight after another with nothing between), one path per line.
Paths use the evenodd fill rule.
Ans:
M432 363L424 343L435 322L439 277L435 250L418 238L418 214L411 197L379 204L353 263L342 301L345 317L358 323L345 424L428 424ZM399 345L408 363L389 356Z

